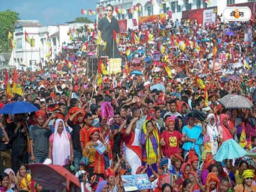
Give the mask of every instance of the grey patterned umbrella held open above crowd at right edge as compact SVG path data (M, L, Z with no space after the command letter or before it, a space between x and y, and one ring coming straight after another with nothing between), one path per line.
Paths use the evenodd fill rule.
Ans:
M226 109L250 109L253 106L252 101L241 95L228 94L222 97L219 102Z

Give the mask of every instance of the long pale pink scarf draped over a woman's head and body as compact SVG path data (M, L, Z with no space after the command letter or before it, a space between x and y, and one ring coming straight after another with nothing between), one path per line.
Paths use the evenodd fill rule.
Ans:
M58 124L63 123L63 131L58 134ZM54 129L54 140L52 142L52 164L59 164L61 166L66 164L67 158L70 158L70 142L66 131L65 124L62 119L56 120Z

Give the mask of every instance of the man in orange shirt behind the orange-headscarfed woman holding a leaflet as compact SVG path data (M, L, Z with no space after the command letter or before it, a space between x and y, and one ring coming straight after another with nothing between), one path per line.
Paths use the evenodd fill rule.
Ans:
M86 113L84 115L84 127L80 130L80 144L82 151L89 141L89 134L88 132L92 128L92 113Z

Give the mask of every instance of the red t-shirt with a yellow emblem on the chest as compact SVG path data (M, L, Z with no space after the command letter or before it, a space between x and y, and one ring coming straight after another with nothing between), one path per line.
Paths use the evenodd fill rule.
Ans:
M165 141L165 146L163 146L164 156L173 156L174 154L179 153L179 141L182 138L182 134L179 131L164 131L161 134L161 138Z

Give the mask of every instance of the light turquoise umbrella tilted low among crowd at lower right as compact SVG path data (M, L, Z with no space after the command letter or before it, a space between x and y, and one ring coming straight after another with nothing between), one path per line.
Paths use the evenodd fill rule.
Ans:
M246 150L244 150L235 140L230 139L224 141L213 159L222 162L225 159L236 159L246 155Z

